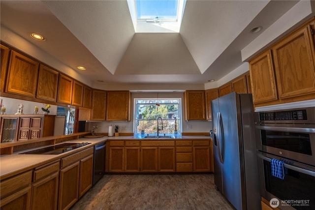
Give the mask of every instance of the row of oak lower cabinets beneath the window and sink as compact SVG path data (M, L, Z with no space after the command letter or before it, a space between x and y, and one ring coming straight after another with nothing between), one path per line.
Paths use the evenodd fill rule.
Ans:
M213 172L210 140L108 141L107 172Z

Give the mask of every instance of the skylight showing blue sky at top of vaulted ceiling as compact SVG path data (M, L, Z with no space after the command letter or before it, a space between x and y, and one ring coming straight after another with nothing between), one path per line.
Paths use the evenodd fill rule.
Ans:
M135 32L179 32L186 0L127 0Z

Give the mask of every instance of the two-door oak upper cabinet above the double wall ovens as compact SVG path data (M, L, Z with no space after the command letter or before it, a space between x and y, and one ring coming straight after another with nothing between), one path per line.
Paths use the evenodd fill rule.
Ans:
M315 98L314 22L312 18L250 61L255 107Z

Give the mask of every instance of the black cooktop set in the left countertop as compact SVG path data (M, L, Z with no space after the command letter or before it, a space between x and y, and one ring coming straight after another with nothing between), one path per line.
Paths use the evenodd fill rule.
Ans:
M81 143L63 143L60 145L54 145L42 149L32 150L23 152L21 154L61 154L63 152L67 152L70 150L74 150L85 145L89 145L91 143L88 142L81 142Z

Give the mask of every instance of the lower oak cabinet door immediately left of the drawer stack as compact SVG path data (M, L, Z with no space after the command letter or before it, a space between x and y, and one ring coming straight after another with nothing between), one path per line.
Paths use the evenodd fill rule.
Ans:
M175 172L175 147L158 147L158 172Z

